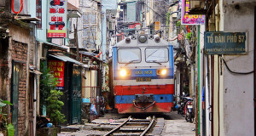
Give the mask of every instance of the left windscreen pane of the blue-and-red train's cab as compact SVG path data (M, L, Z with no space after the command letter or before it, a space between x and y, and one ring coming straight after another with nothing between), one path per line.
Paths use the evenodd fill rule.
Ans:
M139 63L142 61L140 48L120 48L118 50L119 63L130 64Z

